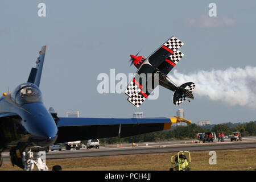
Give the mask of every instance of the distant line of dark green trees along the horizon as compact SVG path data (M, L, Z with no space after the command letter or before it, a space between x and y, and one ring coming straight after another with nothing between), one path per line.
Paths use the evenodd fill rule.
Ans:
M221 123L218 125L197 126L192 123L187 126L176 126L171 130L158 131L154 133L147 133L142 135L135 135L132 137L111 137L100 139L101 144L113 143L132 143L132 142L156 142L167 140L181 140L181 139L197 139L197 133L214 132L224 133L226 136L231 135L234 131L240 131L242 137L256 136L256 121L247 123ZM216 136L216 137L217 137Z

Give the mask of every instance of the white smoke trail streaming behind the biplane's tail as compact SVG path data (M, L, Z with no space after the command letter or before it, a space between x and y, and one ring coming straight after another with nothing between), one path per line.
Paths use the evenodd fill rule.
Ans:
M175 70L169 76L177 85L195 82L197 96L208 96L210 100L256 109L256 67L228 68L224 71L213 69L188 75Z

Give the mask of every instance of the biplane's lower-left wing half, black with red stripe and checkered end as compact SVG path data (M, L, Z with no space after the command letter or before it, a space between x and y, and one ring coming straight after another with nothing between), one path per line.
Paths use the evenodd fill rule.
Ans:
M127 85L124 93L129 96L127 99L136 107L146 100L150 93L158 86L158 77L154 77L156 69L150 64L143 64ZM155 79L157 82L155 82Z

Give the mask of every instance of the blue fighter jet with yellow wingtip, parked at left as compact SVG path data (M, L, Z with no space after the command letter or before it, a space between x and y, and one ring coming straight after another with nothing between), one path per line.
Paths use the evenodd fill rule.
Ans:
M0 98L0 166L2 152L24 170L48 170L46 148L53 143L106 137L129 137L171 128L171 118L61 118L46 109L39 89L46 46L27 82Z

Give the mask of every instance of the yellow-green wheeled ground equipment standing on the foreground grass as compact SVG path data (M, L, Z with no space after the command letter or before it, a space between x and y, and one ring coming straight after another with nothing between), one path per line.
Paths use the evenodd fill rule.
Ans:
M187 156L185 155L187 153ZM175 158L175 159L174 159ZM170 171L190 171L191 170L191 156L189 151L179 151L177 155L171 157L172 167Z

